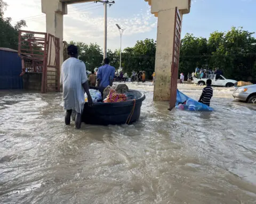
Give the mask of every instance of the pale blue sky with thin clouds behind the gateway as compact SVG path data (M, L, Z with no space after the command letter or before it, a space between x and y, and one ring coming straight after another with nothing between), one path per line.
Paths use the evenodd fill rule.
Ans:
M26 20L24 30L45 32L45 14L41 0L4 0L9 4L5 17L14 22ZM172 0L169 0L172 1ZM193 33L196 37L210 36L213 31L227 31L232 26L256 31L256 0L192 0L189 14L183 15L182 36ZM68 5L64 17L64 40L97 43L103 47L103 5L81 3ZM119 49L118 23L125 29L122 47L132 47L137 40L156 39L157 18L150 13L144 0L115 0L108 8L108 48ZM256 35L254 35L256 37Z

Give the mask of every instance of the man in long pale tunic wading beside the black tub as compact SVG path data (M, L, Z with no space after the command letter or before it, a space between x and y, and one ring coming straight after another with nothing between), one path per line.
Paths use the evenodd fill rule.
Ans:
M84 92L87 94L89 106L92 106L93 101L89 92L86 67L82 61L78 60L78 50L75 45L68 46L68 55L68 60L63 62L61 67L64 109L67 111L65 123L66 125L70 124L72 111L75 111L76 128L80 129L85 104Z

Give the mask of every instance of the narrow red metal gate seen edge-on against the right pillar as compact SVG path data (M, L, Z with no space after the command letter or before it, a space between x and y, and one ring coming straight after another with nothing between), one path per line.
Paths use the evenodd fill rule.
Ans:
M177 97L177 81L180 58L181 41L181 17L178 8L175 8L174 38L173 38L173 58L171 67L171 86L170 86L170 104L169 109L175 107Z

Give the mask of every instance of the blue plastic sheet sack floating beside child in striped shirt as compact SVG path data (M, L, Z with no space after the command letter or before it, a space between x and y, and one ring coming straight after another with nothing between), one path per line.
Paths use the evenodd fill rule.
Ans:
M213 108L189 98L177 90L177 101L175 108L187 111L213 111Z

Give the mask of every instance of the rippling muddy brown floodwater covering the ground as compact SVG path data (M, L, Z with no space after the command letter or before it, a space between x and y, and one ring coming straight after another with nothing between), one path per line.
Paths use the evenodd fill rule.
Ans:
M169 112L150 83L129 87L140 121L81 130L61 94L1 91L0 203L256 203L256 106L214 88L214 112Z

